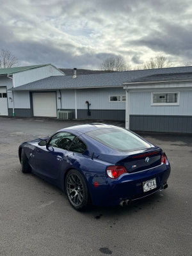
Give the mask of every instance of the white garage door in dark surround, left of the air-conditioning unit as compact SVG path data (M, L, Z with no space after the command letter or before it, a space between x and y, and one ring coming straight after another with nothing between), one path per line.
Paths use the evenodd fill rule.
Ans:
M56 117L56 93L33 93L33 115Z

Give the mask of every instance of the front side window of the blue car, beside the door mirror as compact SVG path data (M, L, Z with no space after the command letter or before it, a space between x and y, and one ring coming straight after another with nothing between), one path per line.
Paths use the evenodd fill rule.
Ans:
M52 136L49 145L52 147L68 150L74 138L75 135L69 132L58 132L57 134Z

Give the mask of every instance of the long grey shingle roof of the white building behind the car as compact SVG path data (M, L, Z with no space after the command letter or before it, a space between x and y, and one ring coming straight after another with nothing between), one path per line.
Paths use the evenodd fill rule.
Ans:
M132 81L139 81L139 79L144 79L144 77L157 75L158 79L161 80L161 76L166 78L168 74L178 74L180 73L179 79L186 77L186 73L192 72L192 67L175 67L175 68L156 68L148 70L131 70L125 72L115 72L106 74L92 74L92 75L81 75L72 78L72 76L54 76L47 77L35 81L33 83L24 84L13 88L14 91L19 90L59 90L59 89L70 89L70 88L103 88L103 87L116 87L123 86L124 82L130 83ZM174 75L176 76L176 75ZM152 79L152 78L147 78Z

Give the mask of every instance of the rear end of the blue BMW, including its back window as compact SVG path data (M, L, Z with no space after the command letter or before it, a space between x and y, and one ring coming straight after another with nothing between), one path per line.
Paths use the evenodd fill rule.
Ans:
M114 150L114 154L106 154L105 157L100 154L98 157L112 164L106 166L105 178L95 189L94 204L130 204L133 200L167 188L171 168L161 148L120 128L88 132L88 136Z

